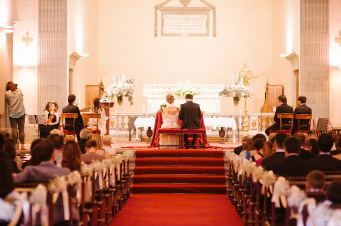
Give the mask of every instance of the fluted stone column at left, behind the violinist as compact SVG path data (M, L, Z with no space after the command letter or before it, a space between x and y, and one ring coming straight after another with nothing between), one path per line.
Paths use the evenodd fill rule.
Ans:
M39 0L38 112L49 100L66 105L67 0Z

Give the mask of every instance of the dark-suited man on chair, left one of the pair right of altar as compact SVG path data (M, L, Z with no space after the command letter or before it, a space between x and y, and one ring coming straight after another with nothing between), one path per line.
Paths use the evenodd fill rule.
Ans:
M277 118L277 114L282 114L282 113L294 113L294 109L287 104L287 97L285 95L280 95L278 97L280 105L276 108L275 111L275 116L273 117L273 120L275 123L267 128L265 130L265 134L269 136L269 131L276 131L279 130L280 126L280 119ZM290 119L282 119L282 124L290 124ZM282 129L287 130L289 128L283 127Z

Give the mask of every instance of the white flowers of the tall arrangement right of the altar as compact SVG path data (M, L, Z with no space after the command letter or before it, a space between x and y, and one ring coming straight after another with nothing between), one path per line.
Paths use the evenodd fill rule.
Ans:
M227 85L222 91L219 92L219 96L232 96L233 99L238 98L251 98L254 93L251 92L249 86L243 84L243 77L235 74L232 76L232 84Z

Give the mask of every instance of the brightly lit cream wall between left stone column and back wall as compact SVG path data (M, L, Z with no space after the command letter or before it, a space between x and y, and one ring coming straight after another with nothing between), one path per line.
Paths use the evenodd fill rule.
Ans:
M85 108L85 85L100 83L98 77L98 1L68 1L68 54L89 54L76 62L73 93L80 109ZM68 89L69 90L69 89ZM68 93L69 94L69 93ZM79 100L79 97L81 99ZM67 100L62 105L66 105Z

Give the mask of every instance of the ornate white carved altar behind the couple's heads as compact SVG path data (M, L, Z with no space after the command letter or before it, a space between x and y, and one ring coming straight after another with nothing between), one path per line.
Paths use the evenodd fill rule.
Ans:
M206 113L220 113L219 92L224 84L191 84L189 80L179 81L177 84L143 84L143 96L147 98L147 112L156 113L160 105L167 104L166 95L173 94L175 106L185 103L185 95L193 94L193 102L200 105L201 111Z

